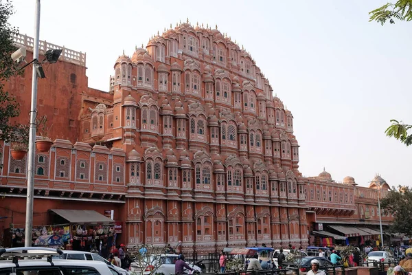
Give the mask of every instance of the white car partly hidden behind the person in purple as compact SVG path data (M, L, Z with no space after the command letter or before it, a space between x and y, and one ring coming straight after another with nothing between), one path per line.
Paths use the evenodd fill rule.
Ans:
M174 263L177 261L177 257L179 255L177 254L157 254L157 255L150 255L148 256L148 259L141 259L141 263L133 262L130 265L130 273L132 275L134 274L143 274L143 275L148 275L148 274L163 274L163 275L169 275L169 274L174 274ZM160 261L157 263L157 261ZM189 263L188 263L189 264ZM190 267L192 267L196 272L202 272L201 268L189 264Z

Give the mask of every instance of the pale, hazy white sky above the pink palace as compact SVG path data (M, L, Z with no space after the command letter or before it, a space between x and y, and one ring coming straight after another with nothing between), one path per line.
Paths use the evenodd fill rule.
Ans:
M396 0L393 0L396 1ZM35 0L12 1L10 23L34 36ZM40 39L86 52L89 87L108 91L113 65L170 23L209 23L243 45L292 111L299 170L369 186L412 186L411 148L385 136L412 124L412 22L381 26L382 0L41 1Z

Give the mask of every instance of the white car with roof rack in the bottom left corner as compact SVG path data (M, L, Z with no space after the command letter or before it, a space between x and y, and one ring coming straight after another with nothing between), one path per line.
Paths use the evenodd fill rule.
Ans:
M120 275L115 270L111 270L106 263L68 261L52 257L58 254L62 254L62 251L53 248L1 248L0 274ZM19 259L21 257L34 257L36 259ZM42 257L46 258L42 259Z

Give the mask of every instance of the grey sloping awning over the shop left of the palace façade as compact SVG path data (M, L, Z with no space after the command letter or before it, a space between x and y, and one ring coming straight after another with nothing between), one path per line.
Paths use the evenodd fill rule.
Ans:
M80 224L112 224L115 223L113 219L96 212L95 210L69 210L69 209L51 209L69 223Z

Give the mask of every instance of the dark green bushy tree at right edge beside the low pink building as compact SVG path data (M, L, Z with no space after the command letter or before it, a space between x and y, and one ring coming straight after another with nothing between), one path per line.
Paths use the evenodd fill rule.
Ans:
M392 188L386 197L380 201L380 208L393 214L393 223L389 230L393 233L403 233L412 236L412 188L398 186Z

